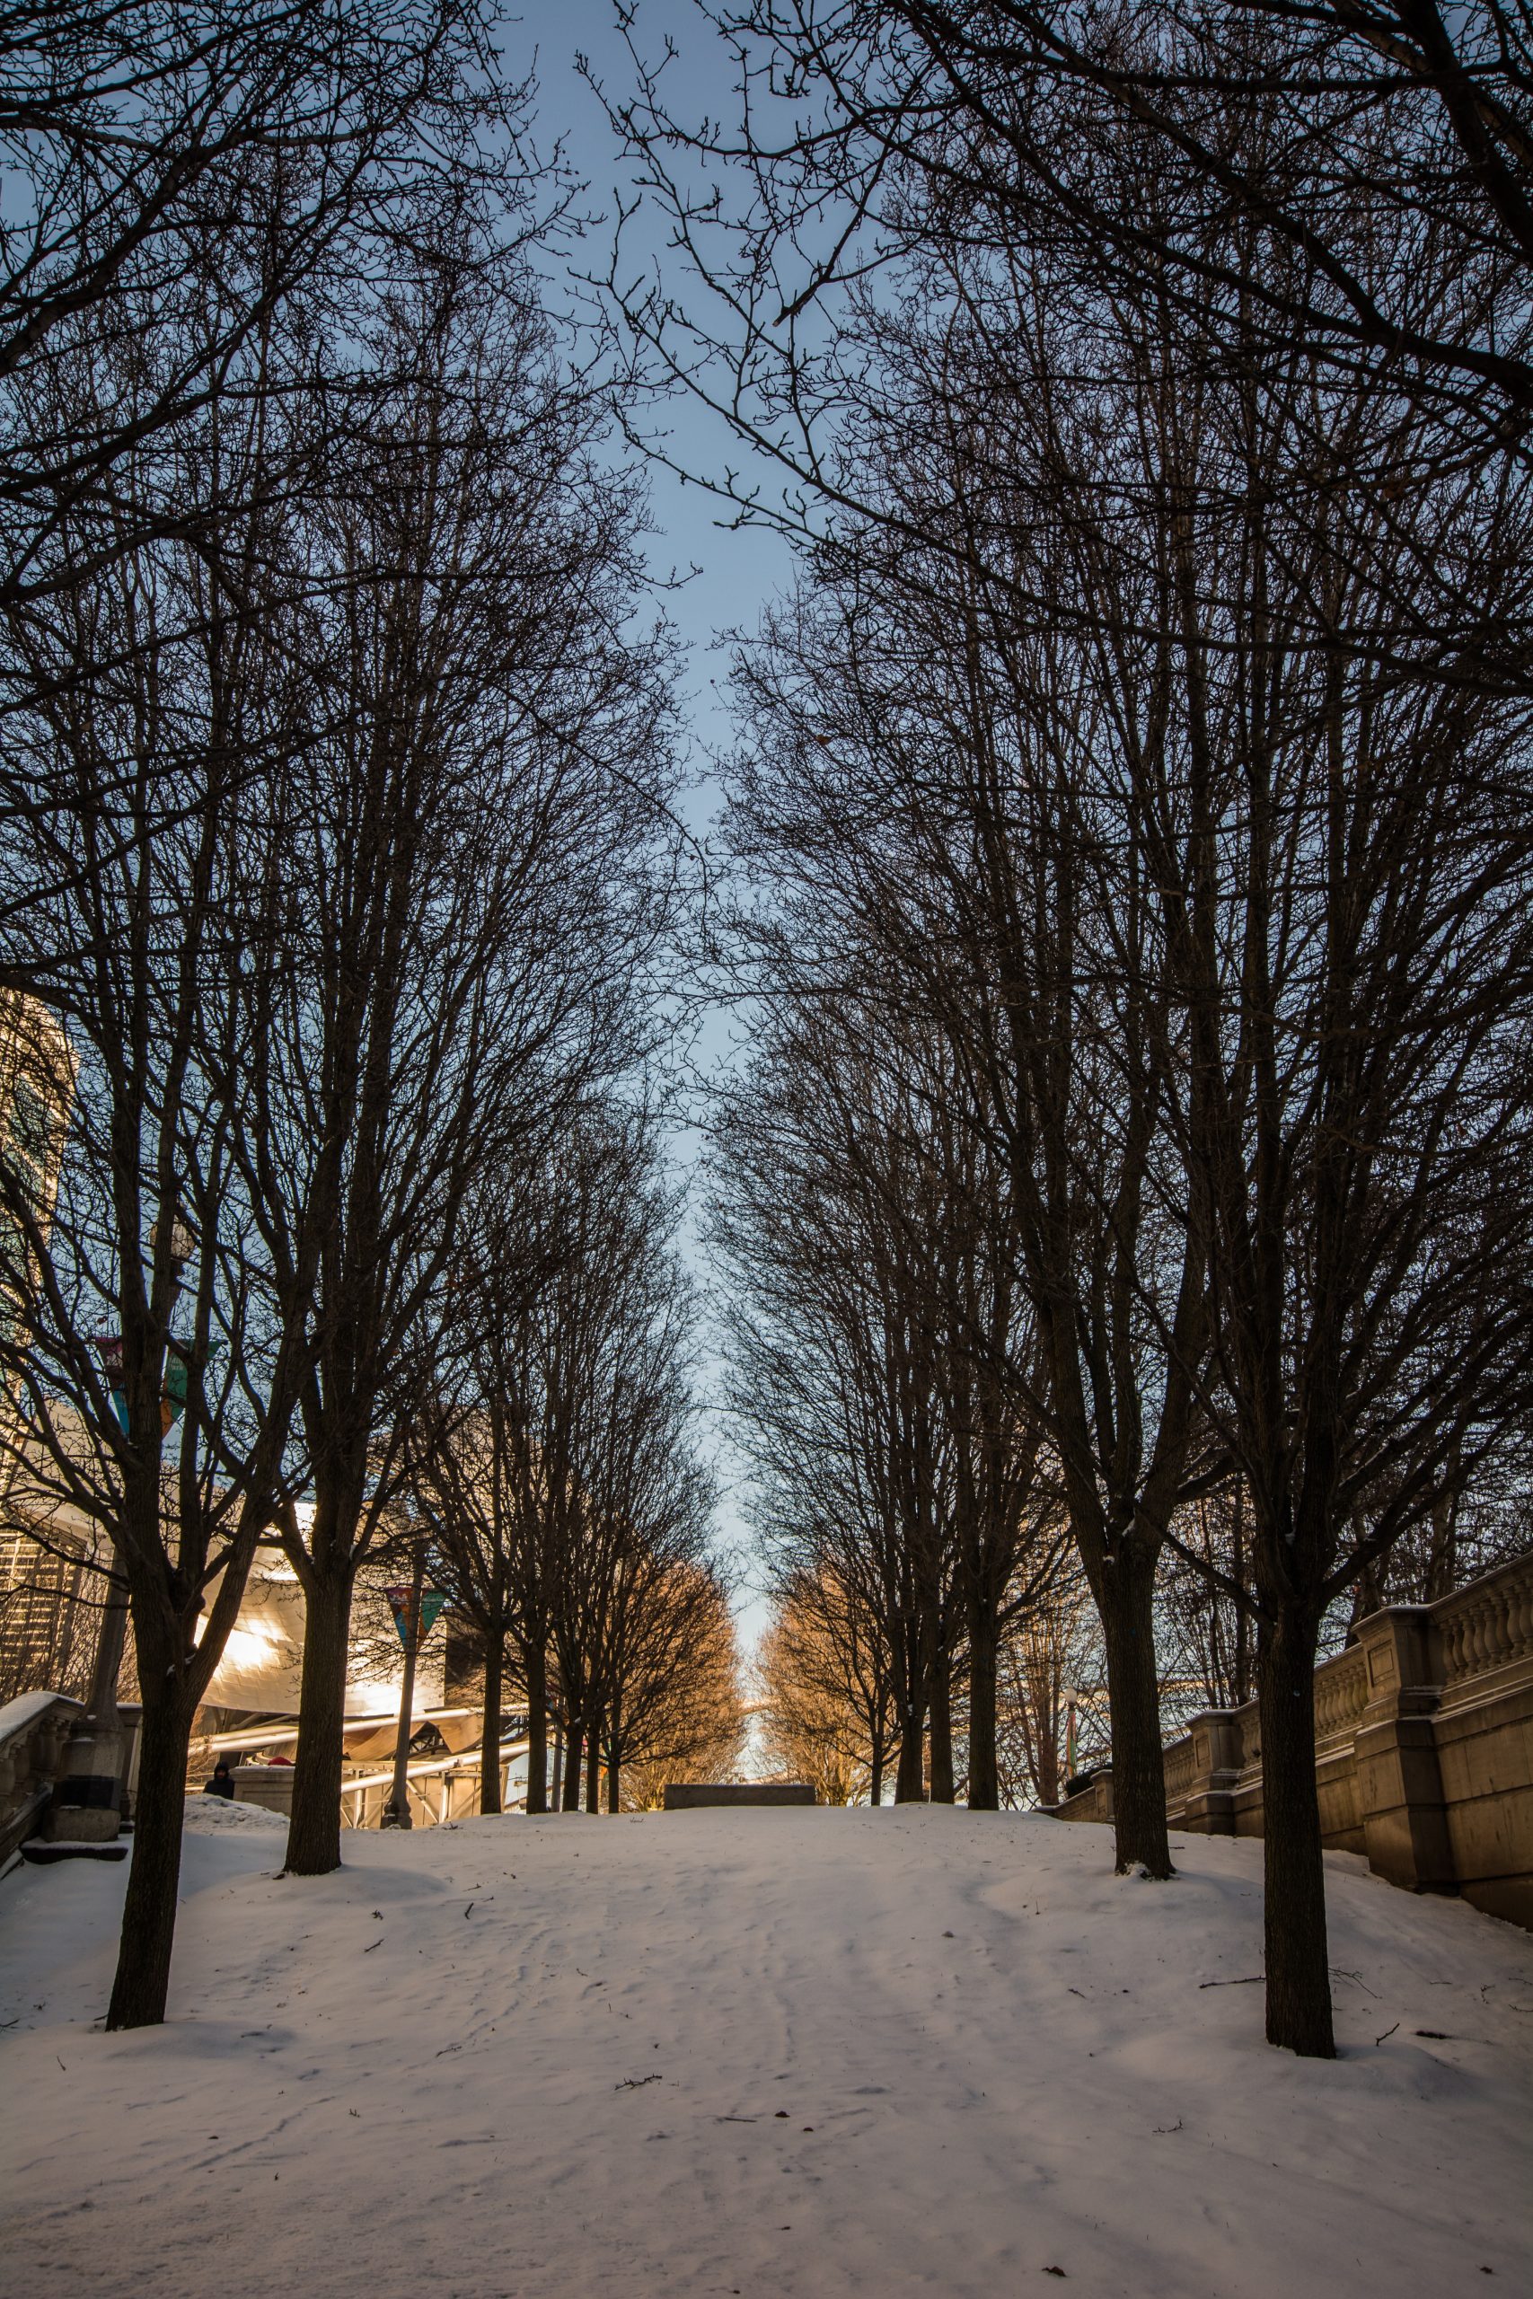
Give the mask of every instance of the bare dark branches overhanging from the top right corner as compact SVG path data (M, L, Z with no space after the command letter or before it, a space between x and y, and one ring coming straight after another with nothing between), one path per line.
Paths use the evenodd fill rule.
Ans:
M1209 287L1253 285L1209 244L1209 223L1234 218L1305 260L1248 294L1264 343L1303 340L1347 372L1404 359L1496 444L1522 439L1533 48L1519 7L754 0L706 16L735 55L747 133L692 140L752 168L777 239L821 223L800 255L800 299L866 264L864 218L878 218L885 251L901 214L919 230L903 200L912 179L970 232L1092 241L1124 283L1197 303ZM646 152L687 140L662 97L646 71L623 113ZM1239 120L1259 131L1232 136ZM1112 159L1133 140L1174 179L1170 232L1115 198ZM1391 248L1381 276L1356 262L1361 212ZM1439 251L1473 283L1471 333L1418 306ZM1517 303L1524 324L1503 333L1496 320Z

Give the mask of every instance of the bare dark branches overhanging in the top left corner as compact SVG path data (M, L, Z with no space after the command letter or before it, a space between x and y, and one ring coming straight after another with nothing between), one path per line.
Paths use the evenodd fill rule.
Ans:
M519 101L476 0L7 9L0 612L216 533L186 467L145 451L248 395L299 301L354 303L368 246L411 228L423 184L478 175ZM110 398L74 389L83 352L115 366Z

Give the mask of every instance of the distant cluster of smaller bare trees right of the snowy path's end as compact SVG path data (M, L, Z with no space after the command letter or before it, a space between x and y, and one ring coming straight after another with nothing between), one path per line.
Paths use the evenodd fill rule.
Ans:
M791 929L772 947L798 966ZM1002 1648L1066 1563L1011 1212L935 1039L896 1051L850 989L781 989L715 1138L777 1639L834 1655L873 1802L885 1777L922 1796L926 1736L952 1802L961 1697L970 1802L993 1809Z

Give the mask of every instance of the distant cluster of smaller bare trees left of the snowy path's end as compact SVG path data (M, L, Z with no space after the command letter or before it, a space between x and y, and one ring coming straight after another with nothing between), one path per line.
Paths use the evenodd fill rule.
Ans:
M430 1570L483 1658L480 1812L501 1809L508 1699L529 1812L549 1809L552 1724L565 1812L595 1812L602 1777L618 1812L740 1752L673 1218L653 1127L611 1106L473 1191L407 1448Z

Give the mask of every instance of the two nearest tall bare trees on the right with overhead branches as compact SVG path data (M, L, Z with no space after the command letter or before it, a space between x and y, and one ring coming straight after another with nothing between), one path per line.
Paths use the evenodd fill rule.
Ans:
M637 370L786 471L717 487L802 549L740 669L729 963L786 1110L781 1216L722 1150L726 1225L772 1221L747 1402L800 1508L804 1416L887 1464L855 1499L869 1547L903 1515L926 1618L938 1483L993 1430L1057 1487L1151 1876L1158 1584L1211 1575L1255 1644L1269 2037L1328 2055L1319 1637L1533 1386L1526 25L706 14L733 131L664 74L616 108L685 290L614 292ZM821 1218L791 1193L834 1136L862 1207ZM894 1264L954 1205L991 1267L924 1327ZM878 1386L837 1356L784 1409L788 1260L825 1299L853 1269L807 1315ZM972 1421L931 1412L956 1366ZM1184 1536L1214 1497L1239 1577Z

